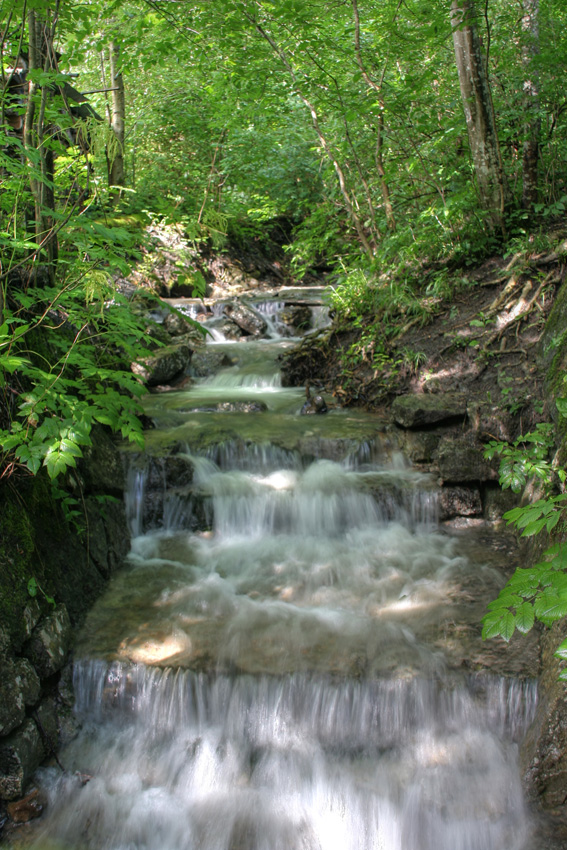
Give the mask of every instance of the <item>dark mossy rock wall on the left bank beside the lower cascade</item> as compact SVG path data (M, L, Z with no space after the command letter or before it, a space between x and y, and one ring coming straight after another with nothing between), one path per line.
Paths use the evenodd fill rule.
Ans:
M74 627L129 550L122 459L102 428L92 436L67 480L74 523L41 475L0 492L0 824L41 811L10 801L72 734Z

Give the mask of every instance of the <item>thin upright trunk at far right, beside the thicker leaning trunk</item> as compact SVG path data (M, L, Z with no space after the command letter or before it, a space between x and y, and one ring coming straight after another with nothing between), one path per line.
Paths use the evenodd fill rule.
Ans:
M522 0L522 67L524 70L524 144L522 206L533 210L538 198L539 86L534 58L539 52L539 0Z

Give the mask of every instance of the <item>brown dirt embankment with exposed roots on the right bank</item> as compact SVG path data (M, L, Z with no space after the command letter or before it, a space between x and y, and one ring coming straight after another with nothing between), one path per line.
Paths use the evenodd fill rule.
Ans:
M546 351L542 334L566 274L567 241L543 254L490 259L455 276L446 301L426 298L420 316L390 317L389 334L370 316L359 328L347 320L306 339L286 359L286 380L319 382L337 403L370 410L406 393L465 393L500 412L488 438L513 439L550 416L546 378L564 328L553 329ZM376 356L377 343L386 357Z

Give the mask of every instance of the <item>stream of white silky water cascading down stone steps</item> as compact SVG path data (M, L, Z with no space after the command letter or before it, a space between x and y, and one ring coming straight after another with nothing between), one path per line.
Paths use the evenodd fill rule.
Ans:
M524 847L535 686L479 637L508 543L442 533L376 417L300 416L286 345L219 343L214 377L148 399L38 846Z

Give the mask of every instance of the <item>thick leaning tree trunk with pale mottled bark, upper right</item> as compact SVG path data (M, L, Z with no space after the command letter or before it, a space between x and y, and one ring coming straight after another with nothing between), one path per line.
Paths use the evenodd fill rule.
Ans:
M504 229L507 189L496 133L494 107L474 0L452 0L451 25L471 157L483 208L494 229Z

